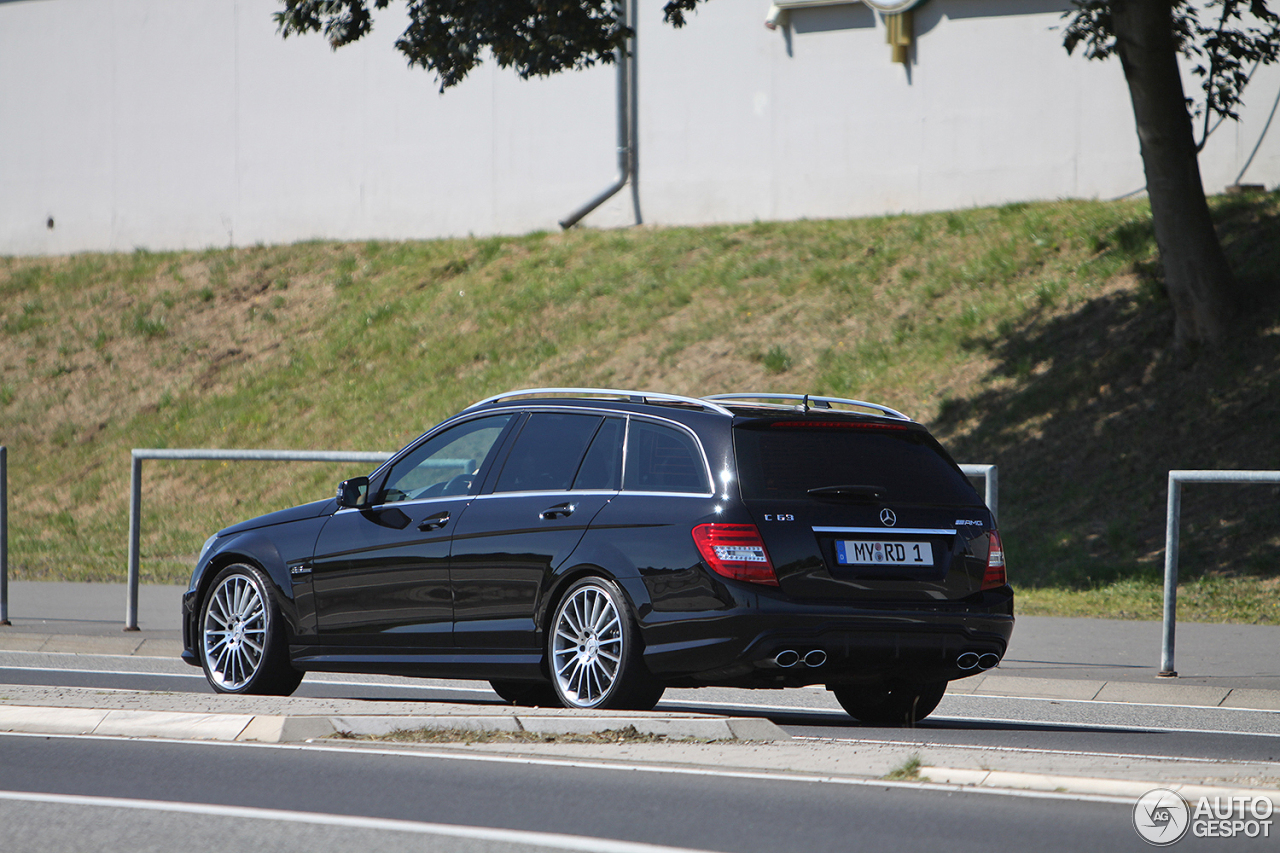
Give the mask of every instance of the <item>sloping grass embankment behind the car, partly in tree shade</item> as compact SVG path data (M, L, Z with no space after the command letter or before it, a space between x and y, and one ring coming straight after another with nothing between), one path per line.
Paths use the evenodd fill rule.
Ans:
M1167 470L1280 469L1280 196L1213 207L1252 307L1190 360L1140 201L0 259L12 576L123 578L132 447L394 450L516 387L786 389L998 464L1021 612L1153 619ZM357 473L148 462L143 578ZM1277 494L1187 489L1183 619L1280 622Z

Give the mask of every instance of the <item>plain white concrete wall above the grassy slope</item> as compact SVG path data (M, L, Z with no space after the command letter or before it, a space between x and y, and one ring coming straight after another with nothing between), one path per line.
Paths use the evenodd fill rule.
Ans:
M1143 184L1117 61L1061 46L1066 0L929 0L909 68L860 4L709 0L684 29L640 0L645 222L855 216ZM440 95L392 44L282 40L275 0L0 0L0 254L553 229L616 173L614 72ZM1280 90L1201 165L1235 181ZM1280 182L1280 119L1247 182ZM46 227L52 216L54 228ZM585 224L632 222L621 193Z

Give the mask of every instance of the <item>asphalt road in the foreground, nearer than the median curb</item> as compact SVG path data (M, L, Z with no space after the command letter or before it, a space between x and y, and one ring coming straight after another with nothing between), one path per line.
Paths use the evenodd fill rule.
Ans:
M420 836L403 838L411 835L407 827L315 833L315 824L279 812L316 821L364 817L596 839L581 849L608 849L607 841L735 853L1146 849L1129 825L1128 803L781 775L521 763L417 749L29 735L0 736L0 766L10 768L4 781L9 792L116 800L0 799L6 849L275 850L305 844L321 852L351 850L356 843L369 849L471 849L451 847L460 839L448 838L424 845ZM206 808L160 812L147 811L147 803ZM210 806L276 813L251 817ZM1185 847L1245 849L1204 841L1188 838Z

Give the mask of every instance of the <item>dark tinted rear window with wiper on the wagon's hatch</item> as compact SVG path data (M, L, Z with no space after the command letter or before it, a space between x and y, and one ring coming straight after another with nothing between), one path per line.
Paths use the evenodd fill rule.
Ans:
M805 500L809 489L876 487L895 503L982 505L928 433L778 423L733 430L742 497Z

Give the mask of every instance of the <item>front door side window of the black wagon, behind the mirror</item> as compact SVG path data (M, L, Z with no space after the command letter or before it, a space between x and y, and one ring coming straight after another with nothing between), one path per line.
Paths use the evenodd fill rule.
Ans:
M479 418L435 435L396 462L378 503L475 494L477 474L512 415Z

